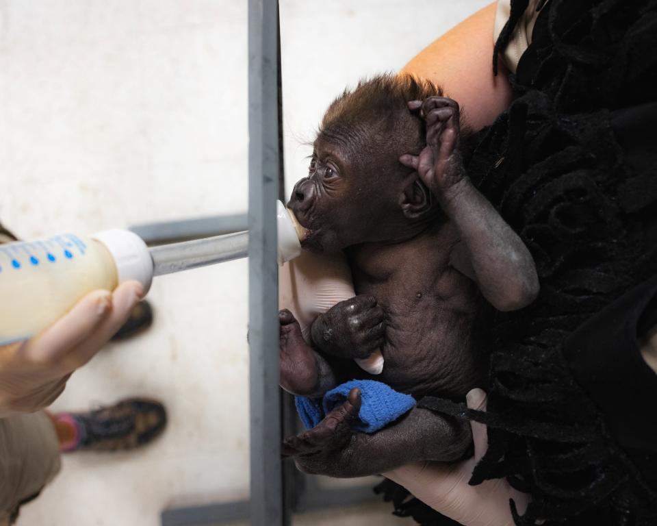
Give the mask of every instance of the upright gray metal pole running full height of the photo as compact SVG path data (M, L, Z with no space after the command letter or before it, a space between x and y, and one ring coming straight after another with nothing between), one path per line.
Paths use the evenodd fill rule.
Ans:
M278 2L248 2L250 517L284 526L276 199L279 197Z

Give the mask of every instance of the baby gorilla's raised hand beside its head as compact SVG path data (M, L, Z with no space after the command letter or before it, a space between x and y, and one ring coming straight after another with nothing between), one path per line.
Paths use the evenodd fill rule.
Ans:
M400 157L404 166L417 170L420 179L438 199L446 196L465 177L459 150L459 104L447 97L429 97L409 102L409 109L420 110L426 122L426 147L420 155Z

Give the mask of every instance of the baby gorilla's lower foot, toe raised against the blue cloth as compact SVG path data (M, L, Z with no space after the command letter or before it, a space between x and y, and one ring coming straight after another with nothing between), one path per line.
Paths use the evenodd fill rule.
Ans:
M349 423L358 416L361 392L353 388L346 401L324 417L318 425L283 441L283 455L294 457L300 471L333 477L350 476L352 459L346 447L354 431Z

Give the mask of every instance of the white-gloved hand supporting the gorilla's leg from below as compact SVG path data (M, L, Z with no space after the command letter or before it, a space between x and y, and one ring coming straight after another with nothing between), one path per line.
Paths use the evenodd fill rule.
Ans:
M467 407L486 410L486 393L467 393ZM488 448L486 426L471 422L474 456L457 464L420 462L408 464L383 475L404 486L417 499L463 526L513 526L509 499L523 514L530 497L509 486L506 479L487 480L477 486L467 481L474 466Z

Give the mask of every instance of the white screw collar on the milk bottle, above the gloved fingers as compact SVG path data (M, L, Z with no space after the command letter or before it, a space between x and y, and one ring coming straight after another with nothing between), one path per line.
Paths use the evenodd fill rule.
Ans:
M103 243L112 254L118 283L139 281L146 295L153 281L153 259L144 240L134 232L119 229L96 232L91 237Z

